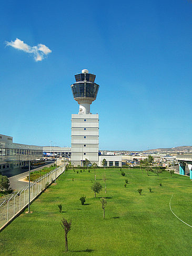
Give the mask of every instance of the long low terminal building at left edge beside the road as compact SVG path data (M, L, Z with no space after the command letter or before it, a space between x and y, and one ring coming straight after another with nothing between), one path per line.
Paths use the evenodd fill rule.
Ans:
M13 143L13 137L0 134L0 172L43 159L43 147ZM2 172L3 173L3 172Z

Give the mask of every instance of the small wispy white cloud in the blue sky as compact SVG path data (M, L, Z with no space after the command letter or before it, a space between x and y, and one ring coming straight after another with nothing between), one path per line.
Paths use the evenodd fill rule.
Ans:
M16 38L15 41L6 42L6 46L12 46L12 47L14 47L18 50L22 50L26 53L32 53L34 55L35 61L42 61L44 59L45 55L52 52L44 44L38 44L37 46L29 46L18 38Z

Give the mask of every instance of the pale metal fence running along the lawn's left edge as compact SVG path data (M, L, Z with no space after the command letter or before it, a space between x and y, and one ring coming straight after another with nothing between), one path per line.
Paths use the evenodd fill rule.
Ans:
M6 224L12 221L23 209L26 208L29 202L32 202L39 194L44 191L47 186L55 181L60 174L65 172L66 165L59 166L41 176L34 182L30 182L22 190L12 193L3 202L0 203L0 230L6 226Z

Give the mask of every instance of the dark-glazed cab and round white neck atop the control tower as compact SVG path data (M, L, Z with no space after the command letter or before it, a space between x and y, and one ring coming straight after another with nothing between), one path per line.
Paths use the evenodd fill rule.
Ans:
M99 85L95 83L94 74L88 70L75 75L76 82L71 85L74 100L79 104L79 114L90 114L90 104L96 100Z

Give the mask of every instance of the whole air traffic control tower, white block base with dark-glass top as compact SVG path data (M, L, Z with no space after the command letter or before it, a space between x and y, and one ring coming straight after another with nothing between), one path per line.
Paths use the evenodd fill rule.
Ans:
M96 100L99 85L95 75L88 70L75 75L76 82L71 85L74 100L79 104L78 114L72 114L72 155L74 166L83 166L85 159L98 165L99 116L90 113L90 104Z

